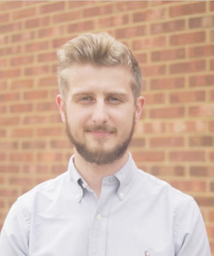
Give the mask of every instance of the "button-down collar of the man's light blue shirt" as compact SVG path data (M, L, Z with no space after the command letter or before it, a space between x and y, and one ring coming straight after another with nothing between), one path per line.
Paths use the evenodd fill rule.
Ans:
M74 193L74 196L76 197L77 201L81 201L81 198L83 197L83 184L88 188L90 191L91 189L88 187L88 184L84 181L84 179L81 177L81 175L78 173L77 169L74 166L74 155L71 156L68 164L68 172L69 172L69 179L73 183L72 190ZM133 183L136 178L137 173L137 167L135 162L133 161L133 158L131 156L131 153L129 152L129 158L126 164L113 176L105 177L104 179L110 179L112 177L116 177L118 179L120 185L118 188L118 196L120 200L123 200L125 198L128 191L130 191L131 186L133 186Z

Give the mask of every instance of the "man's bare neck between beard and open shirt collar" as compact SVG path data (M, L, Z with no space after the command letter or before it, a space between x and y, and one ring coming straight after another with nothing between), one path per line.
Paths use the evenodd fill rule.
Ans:
M88 186L93 189L96 196L99 198L101 194L101 187L103 178L111 176L119 171L128 161L128 151L125 152L123 157L118 159L112 164L104 164L98 166L94 163L89 163L81 157L81 155L74 148L74 166L78 170L79 174L88 183Z

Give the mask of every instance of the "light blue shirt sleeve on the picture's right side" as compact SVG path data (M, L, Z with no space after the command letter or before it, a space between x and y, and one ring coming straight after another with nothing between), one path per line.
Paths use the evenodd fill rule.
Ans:
M205 223L195 200L180 219L176 236L176 256L211 256Z

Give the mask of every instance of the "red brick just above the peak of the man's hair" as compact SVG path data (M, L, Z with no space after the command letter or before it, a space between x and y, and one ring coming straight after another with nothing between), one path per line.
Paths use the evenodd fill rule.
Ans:
M99 19L98 26L99 28L107 28L111 26L120 26L129 23L128 14L111 16L108 18Z

